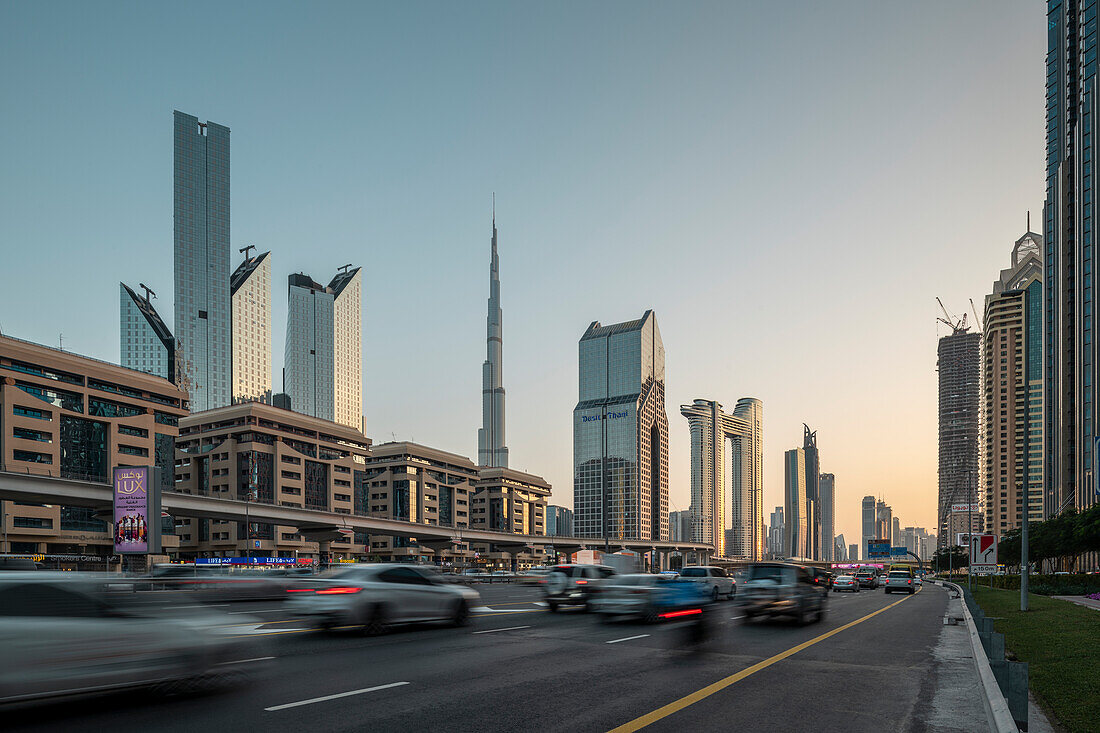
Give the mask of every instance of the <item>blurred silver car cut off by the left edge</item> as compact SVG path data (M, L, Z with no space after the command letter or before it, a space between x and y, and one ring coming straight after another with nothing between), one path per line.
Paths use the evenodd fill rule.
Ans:
M226 614L186 615L118 577L0 572L0 702L129 687L201 688L265 660ZM270 657L267 657L270 658Z

